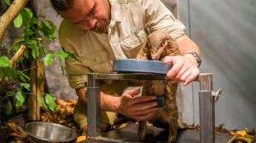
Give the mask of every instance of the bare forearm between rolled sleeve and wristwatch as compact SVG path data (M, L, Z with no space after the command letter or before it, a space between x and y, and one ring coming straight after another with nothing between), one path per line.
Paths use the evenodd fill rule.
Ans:
M200 54L200 49L198 48L196 43L194 43L186 35L183 35L183 36L177 38L177 46L182 55L188 54L190 52L196 52L197 54Z

